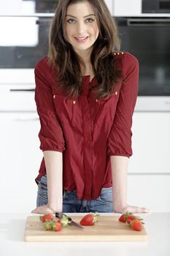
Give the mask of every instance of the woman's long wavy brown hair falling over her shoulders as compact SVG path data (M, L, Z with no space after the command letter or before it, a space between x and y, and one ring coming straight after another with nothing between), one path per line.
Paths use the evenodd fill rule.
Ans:
M64 23L69 4L88 1L95 12L98 25L98 38L93 44L90 61L98 85L93 89L96 98L104 98L113 93L115 83L122 77L122 72L115 66L112 50L120 50L120 39L117 27L104 0L59 0L55 16L50 26L49 63L55 64L58 86L69 97L81 94L82 74L80 56L75 53L72 45L66 40Z

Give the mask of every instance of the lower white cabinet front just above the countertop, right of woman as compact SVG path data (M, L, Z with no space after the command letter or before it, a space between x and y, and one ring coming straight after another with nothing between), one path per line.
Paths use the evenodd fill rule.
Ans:
M128 204L170 212L170 175L128 175Z

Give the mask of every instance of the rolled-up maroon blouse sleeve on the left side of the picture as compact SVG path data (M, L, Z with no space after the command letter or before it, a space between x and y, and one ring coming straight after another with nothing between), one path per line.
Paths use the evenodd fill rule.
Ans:
M36 110L40 121L40 149L42 151L60 151L65 150L65 140L63 131L59 124L55 106L53 104L53 92L50 86L49 78L45 75L45 70L37 64L35 69L35 102Z

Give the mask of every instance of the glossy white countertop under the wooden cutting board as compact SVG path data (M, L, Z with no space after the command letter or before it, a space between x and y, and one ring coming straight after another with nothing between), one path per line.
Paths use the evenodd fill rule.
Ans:
M25 242L26 217L35 214L0 214L1 256L169 256L170 213L135 214L144 219L148 239L142 242ZM80 214L68 214L80 215ZM85 214L81 214L85 215ZM101 214L117 215L120 214Z

